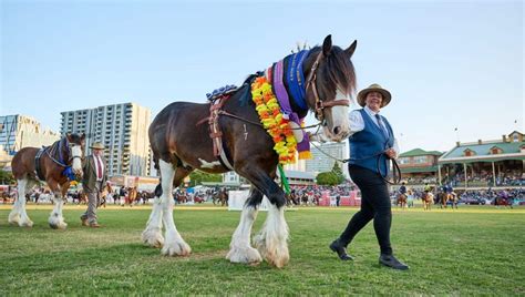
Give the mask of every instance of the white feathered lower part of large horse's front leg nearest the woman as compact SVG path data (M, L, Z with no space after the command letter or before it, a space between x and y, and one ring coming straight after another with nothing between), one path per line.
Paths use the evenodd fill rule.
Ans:
M285 219L285 207L268 206L268 216L259 235L254 242L262 257L280 268L290 259L288 253L288 225Z

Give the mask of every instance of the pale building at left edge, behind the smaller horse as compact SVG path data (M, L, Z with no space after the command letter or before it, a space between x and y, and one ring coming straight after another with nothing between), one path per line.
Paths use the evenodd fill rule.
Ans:
M25 146L41 147L60 140L60 134L42 129L31 116L0 115L0 146L8 155L14 155Z

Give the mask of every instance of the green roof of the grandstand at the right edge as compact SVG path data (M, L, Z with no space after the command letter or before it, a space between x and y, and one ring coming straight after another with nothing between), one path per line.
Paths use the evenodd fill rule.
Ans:
M465 143L446 152L437 161L440 164L447 163L473 163L473 162L496 162L502 160L525 160L525 153L522 153L522 146L525 142L486 142L486 143ZM494 146L500 147L501 154L491 154ZM465 150L474 152L472 156L465 156Z

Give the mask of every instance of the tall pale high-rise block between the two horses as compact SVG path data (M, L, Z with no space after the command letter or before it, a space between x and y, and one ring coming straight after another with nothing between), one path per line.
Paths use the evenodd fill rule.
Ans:
M151 111L135 103L62 112L61 134L85 133L85 154L93 142L105 146L109 175L151 175L147 129Z

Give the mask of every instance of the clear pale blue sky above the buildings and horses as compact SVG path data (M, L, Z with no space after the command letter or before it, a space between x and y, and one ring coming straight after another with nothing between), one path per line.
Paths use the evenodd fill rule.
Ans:
M524 132L522 1L1 1L0 114L204 102L297 42L347 48L402 151ZM517 120L517 123L514 123ZM457 132L454 129L459 127Z

